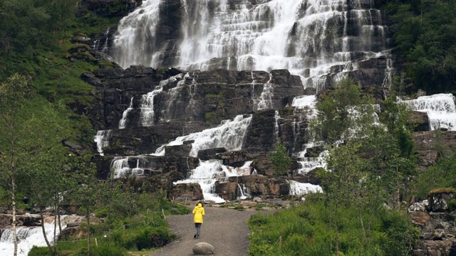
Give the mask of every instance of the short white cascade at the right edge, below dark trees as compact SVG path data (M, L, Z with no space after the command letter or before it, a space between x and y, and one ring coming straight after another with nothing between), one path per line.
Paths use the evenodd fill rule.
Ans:
M430 129L445 128L456 131L455 96L452 94L436 94L421 96L415 100L404 100L411 110L427 112Z

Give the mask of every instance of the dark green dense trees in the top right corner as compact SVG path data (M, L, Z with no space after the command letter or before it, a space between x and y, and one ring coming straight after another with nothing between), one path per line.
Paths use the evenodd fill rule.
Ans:
M395 23L395 49L405 60L410 91L456 90L456 2L378 1Z

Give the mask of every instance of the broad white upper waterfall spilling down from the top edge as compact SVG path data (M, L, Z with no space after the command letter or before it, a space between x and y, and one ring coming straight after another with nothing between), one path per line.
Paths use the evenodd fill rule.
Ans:
M171 21L160 18L167 18L167 8L164 0L142 1L120 21L110 49L119 65L288 69L318 88L332 79L326 75L358 69L358 60L390 55L388 27L373 2L180 0L172 21L179 29L164 36L162 26Z

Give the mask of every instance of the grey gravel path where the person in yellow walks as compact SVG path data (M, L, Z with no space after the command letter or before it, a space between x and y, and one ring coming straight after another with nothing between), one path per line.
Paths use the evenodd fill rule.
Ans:
M193 206L192 206L193 207ZM193 208L192 208L193 209ZM244 211L204 207L204 223L201 227L201 238L194 239L195 225L192 213L187 215L167 216L172 233L177 240L171 242L153 256L187 256L194 255L193 245L198 242L208 242L215 248L214 255L244 256L249 249L249 228L247 220L250 215L257 213L254 209Z

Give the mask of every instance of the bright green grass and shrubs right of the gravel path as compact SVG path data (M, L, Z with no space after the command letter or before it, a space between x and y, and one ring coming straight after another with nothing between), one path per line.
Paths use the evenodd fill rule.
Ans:
M371 240L363 238L358 209L342 206L338 216L339 255L407 255L405 216L379 208L372 220ZM368 219L366 213L363 218ZM273 215L252 215L249 255L336 255L333 215L323 198L311 195L305 203Z

